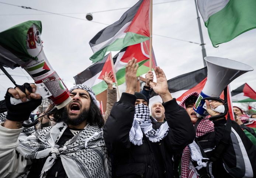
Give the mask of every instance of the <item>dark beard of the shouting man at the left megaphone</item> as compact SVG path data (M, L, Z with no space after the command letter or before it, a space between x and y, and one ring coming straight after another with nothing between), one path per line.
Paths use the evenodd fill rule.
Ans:
M84 109L81 114L75 116L69 116L68 115L68 110L67 108L65 107L65 109L63 110L62 112L62 121L65 122L66 124L68 125L79 125L81 124L83 121L86 120L86 118L88 117L89 115L89 109Z

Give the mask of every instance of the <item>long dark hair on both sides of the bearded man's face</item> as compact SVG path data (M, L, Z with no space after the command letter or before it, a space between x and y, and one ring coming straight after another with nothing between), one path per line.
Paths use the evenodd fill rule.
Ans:
M98 126L101 128L104 125L103 116L101 114L100 109L93 102L93 98L91 97L91 95L89 95L89 96L90 96L91 102L90 102L89 113L88 113L88 117L86 118L86 121L90 125ZM61 108L53 113L53 118L56 122L62 121L63 111L65 111L65 108Z

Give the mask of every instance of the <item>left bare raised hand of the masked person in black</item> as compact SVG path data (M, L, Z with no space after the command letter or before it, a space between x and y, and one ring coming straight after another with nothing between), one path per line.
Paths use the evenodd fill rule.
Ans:
M134 57L129 60L127 66L125 67L125 82L126 82L126 90L125 93L133 94L136 91L137 85L137 70L139 65L137 64L137 59Z

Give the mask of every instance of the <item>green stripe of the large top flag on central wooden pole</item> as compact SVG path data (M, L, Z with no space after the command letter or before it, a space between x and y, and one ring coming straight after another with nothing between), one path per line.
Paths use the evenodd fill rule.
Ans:
M118 38L116 39L113 43L110 45L106 46L105 48L98 50L96 53L94 53L91 57L90 60L94 62L100 61L104 58L105 53L107 51L118 51L123 49L126 46L131 46L134 44L141 43L143 41L148 40L148 36L143 36L139 34L135 34L132 32L127 32L124 38Z

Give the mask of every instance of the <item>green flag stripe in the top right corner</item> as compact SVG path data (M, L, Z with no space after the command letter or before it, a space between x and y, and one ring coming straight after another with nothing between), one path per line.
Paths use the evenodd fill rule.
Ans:
M205 22L214 47L256 28L256 1L230 0Z

